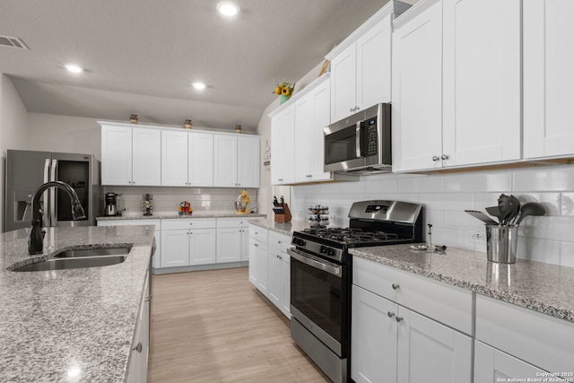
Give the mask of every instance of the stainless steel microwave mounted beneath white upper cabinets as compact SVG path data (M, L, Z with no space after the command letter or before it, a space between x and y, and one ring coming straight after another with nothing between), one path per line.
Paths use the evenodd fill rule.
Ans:
M391 105L377 104L324 128L325 171L391 170Z

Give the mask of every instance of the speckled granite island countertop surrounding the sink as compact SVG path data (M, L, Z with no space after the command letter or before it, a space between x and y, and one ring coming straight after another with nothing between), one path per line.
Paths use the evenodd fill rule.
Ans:
M30 229L0 234L0 381L123 382L154 226L47 228L44 254L133 245L118 265L13 272Z

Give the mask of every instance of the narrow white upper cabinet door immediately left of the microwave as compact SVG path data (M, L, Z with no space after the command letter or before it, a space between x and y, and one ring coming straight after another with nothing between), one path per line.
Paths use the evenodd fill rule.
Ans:
M331 178L331 173L323 170L325 166L325 134L323 128L331 123L331 82L326 81L317 86L317 89L311 91L310 98L309 141L312 150L309 151L309 174L311 175L309 179L320 181Z

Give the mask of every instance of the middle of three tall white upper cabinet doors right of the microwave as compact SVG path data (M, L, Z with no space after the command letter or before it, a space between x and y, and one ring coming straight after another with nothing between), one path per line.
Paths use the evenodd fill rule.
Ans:
M522 2L443 4L443 166L518 160Z

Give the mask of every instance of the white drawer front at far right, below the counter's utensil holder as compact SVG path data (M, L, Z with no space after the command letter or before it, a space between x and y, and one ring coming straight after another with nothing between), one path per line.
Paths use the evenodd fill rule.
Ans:
M567 320L477 294L476 339L541 369L572 371L574 323Z

